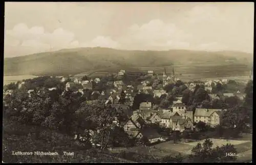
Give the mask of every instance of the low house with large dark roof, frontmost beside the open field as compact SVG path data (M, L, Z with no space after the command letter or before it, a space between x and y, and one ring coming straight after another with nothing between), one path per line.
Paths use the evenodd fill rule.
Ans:
M162 141L162 136L157 132L156 129L145 127L141 130L145 145L151 145Z

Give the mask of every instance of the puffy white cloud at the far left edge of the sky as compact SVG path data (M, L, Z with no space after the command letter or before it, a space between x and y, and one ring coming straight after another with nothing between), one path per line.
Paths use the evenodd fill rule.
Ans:
M49 51L65 48L74 40L74 34L62 28L52 33L46 32L44 27L34 26L28 28L25 23L19 23L11 30L6 31L5 45L29 46L36 50ZM17 42L20 43L17 45Z

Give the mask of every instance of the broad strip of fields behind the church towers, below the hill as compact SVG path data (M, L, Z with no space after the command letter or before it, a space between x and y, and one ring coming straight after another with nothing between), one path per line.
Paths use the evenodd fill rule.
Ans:
M117 73L120 69L125 69L130 72L147 72L147 70L154 70L154 73L162 75L164 68L166 69L167 74L172 73L173 66L153 66L153 67L129 67L129 68L108 68L108 69L99 69L91 70L89 72L84 72L77 74L75 76L92 76L100 77L106 76L108 74ZM192 81L192 80L211 80L211 79L231 79L238 82L247 82L249 79L249 70L248 65L243 64L230 64L230 65L184 65L176 64L174 65L174 70L177 78L180 78L182 81Z

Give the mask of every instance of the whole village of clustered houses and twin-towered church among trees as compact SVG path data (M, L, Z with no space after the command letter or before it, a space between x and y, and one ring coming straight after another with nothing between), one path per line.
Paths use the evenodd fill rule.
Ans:
M227 109L224 108L205 108L202 104L195 107L195 109L189 109L184 102L184 90L194 92L195 89L202 87L209 96L202 100L214 101L220 98L238 97L241 101L245 98L245 93L238 90L237 92L212 92L213 88L218 85L227 84L232 80L207 80L194 81L183 83L176 77L174 67L172 74L168 75L164 69L162 75L155 74L153 70L148 70L147 73L135 73L126 72L120 70L114 76L110 76L108 79L89 78L84 77L56 77L61 83L65 83L65 90L62 91L62 95L67 91L73 93L80 93L81 96L86 95L86 92L90 91L91 101L98 100L103 103L104 106L112 106L117 111L125 116L125 119L119 120L119 116L113 116L113 125L123 129L131 139L136 138L136 145L152 145L156 143L165 142L169 140L171 136L177 136L177 132L183 135L183 132L193 133L198 131L197 125L204 123L209 128L216 128L221 124L221 117L223 112ZM129 81L129 77L136 79L136 82ZM251 78L251 74L249 75ZM139 80L139 81L138 81ZM104 81L104 82L102 82ZM25 82L19 82L18 88L21 88ZM101 85L99 85L101 84ZM175 86L175 84L178 86ZM104 86L104 89L100 89L99 86ZM173 85L173 86L172 86ZM172 86L170 90L168 86ZM49 91L55 90L57 87L48 88ZM181 89L181 92L177 92ZM175 91L176 90L176 91ZM31 97L34 89L28 90L29 97ZM40 90L37 91L38 94ZM176 92L176 93L175 93ZM4 91L5 95L12 95L12 90ZM172 103L168 105L164 104L168 94L172 93ZM158 104L155 101L149 99L142 99L136 107L135 97L137 96L151 96L152 99L159 100ZM173 97L172 96L172 97ZM88 98L88 97L87 97ZM161 103L163 102L163 103ZM159 129L164 131L160 131ZM94 138L99 130L88 130L90 136L84 134L75 133L74 140L80 140L81 142L89 140L92 146L102 148L103 140L101 143L96 143ZM87 138L87 139L86 139ZM90 139L88 139L90 138ZM103 138L103 137L102 137ZM104 139L107 137L104 137ZM145 140L146 139L146 140ZM108 139L107 139L108 140ZM108 143L108 142L107 142Z

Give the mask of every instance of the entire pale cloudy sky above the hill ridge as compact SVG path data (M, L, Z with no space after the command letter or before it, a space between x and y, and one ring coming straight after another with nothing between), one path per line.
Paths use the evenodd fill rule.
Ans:
M254 4L6 2L4 56L80 47L253 53Z

